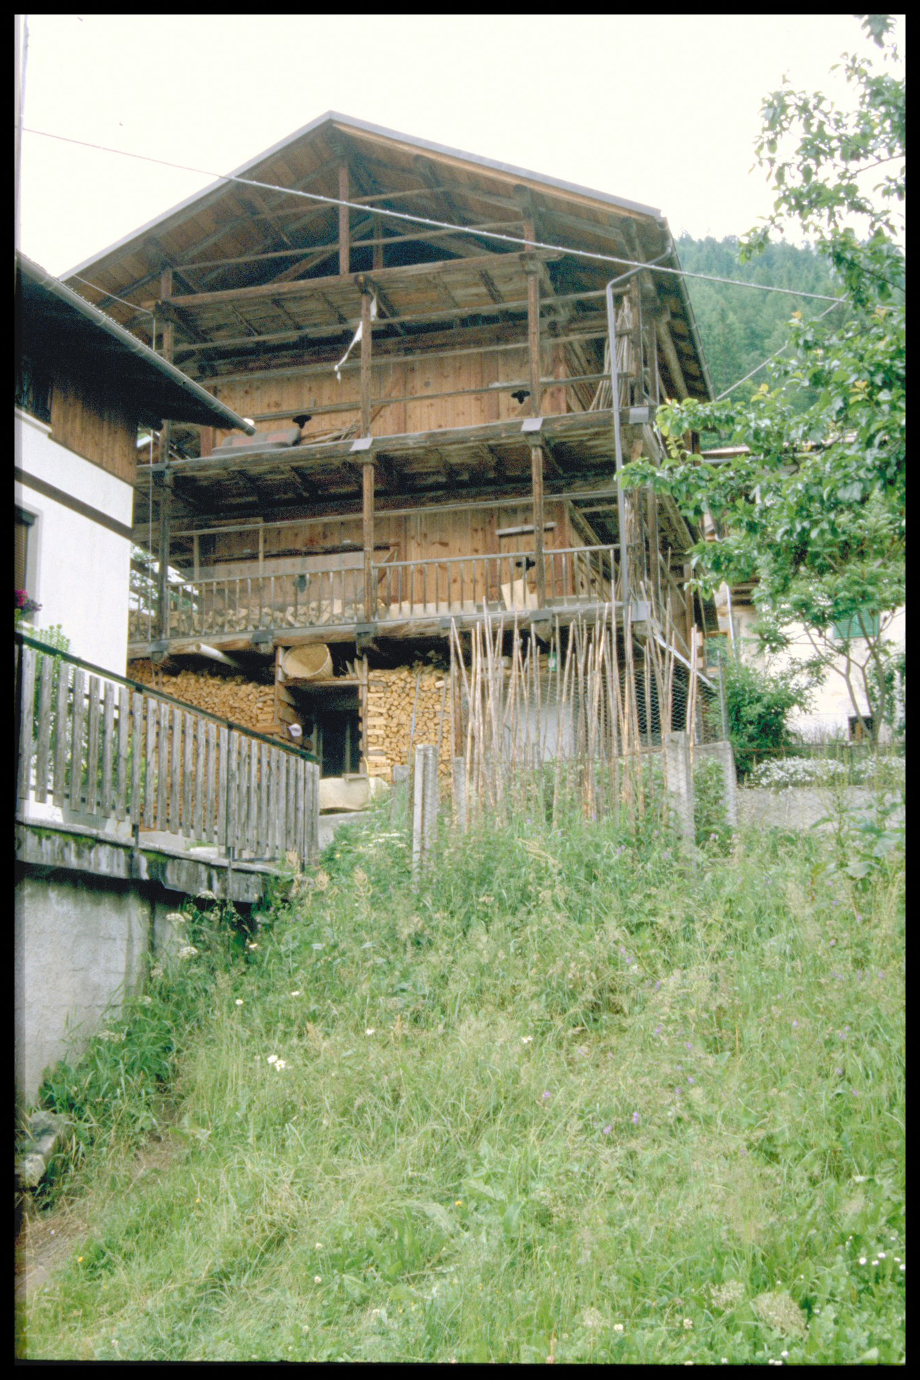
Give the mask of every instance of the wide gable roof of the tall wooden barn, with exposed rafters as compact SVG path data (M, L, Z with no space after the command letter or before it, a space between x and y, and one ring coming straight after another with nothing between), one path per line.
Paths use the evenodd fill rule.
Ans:
M441 255L445 259L519 254L521 244L489 237L488 228L519 237L524 196L530 200L540 240L629 261L658 259L664 268L680 269L667 221L653 207L330 110L65 276L128 330L141 328L144 320L130 304L149 308L157 299L164 268L173 270L174 291L191 295L268 283L289 287L311 276L332 276L337 273L334 199L343 164L349 168L348 200L365 211L363 218L361 210L351 213L352 236L362 224L372 224L374 210L398 208L448 225L478 228L453 237L439 232L434 243L446 250ZM291 190L320 200L291 196ZM380 218L378 224L395 226L406 244L413 239L408 222ZM617 273L615 264L575 257L571 268L582 277L593 275L593 282ZM76 275L90 275L94 286L77 283ZM649 275L662 308L670 313L691 395L711 396L682 277L655 275L653 269ZM343 334L354 328L340 313L330 316L332 323L337 320ZM196 339L182 334L178 338ZM193 345L189 353L195 355ZM199 368L199 356L188 359L185 367Z

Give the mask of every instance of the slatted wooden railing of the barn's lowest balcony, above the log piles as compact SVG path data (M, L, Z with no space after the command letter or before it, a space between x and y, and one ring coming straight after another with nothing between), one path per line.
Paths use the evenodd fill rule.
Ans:
M202 577L167 586L171 650L204 639L238 649L257 642L345 640L369 628L384 636L445 631L490 615L551 613L562 620L619 598L616 546L544 552L542 599L533 552L385 560L372 567L376 606L365 607L361 553L329 556L323 569L274 570L262 575ZM303 562L305 564L307 562ZM316 558L309 558L316 564ZM151 611L130 615L130 654L157 640ZM424 627L421 627L424 625ZM258 636L261 635L261 636Z

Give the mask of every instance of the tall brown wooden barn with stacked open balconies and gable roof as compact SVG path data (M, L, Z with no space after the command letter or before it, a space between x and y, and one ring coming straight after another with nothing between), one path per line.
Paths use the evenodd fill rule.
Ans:
M159 574L130 656L271 683L336 776L435 731L449 756L445 675L483 620L539 639L612 604L689 660L716 627L695 534L616 482L660 458L660 399L710 396L678 266L651 207L336 113L79 265L257 428L167 424L140 464Z

